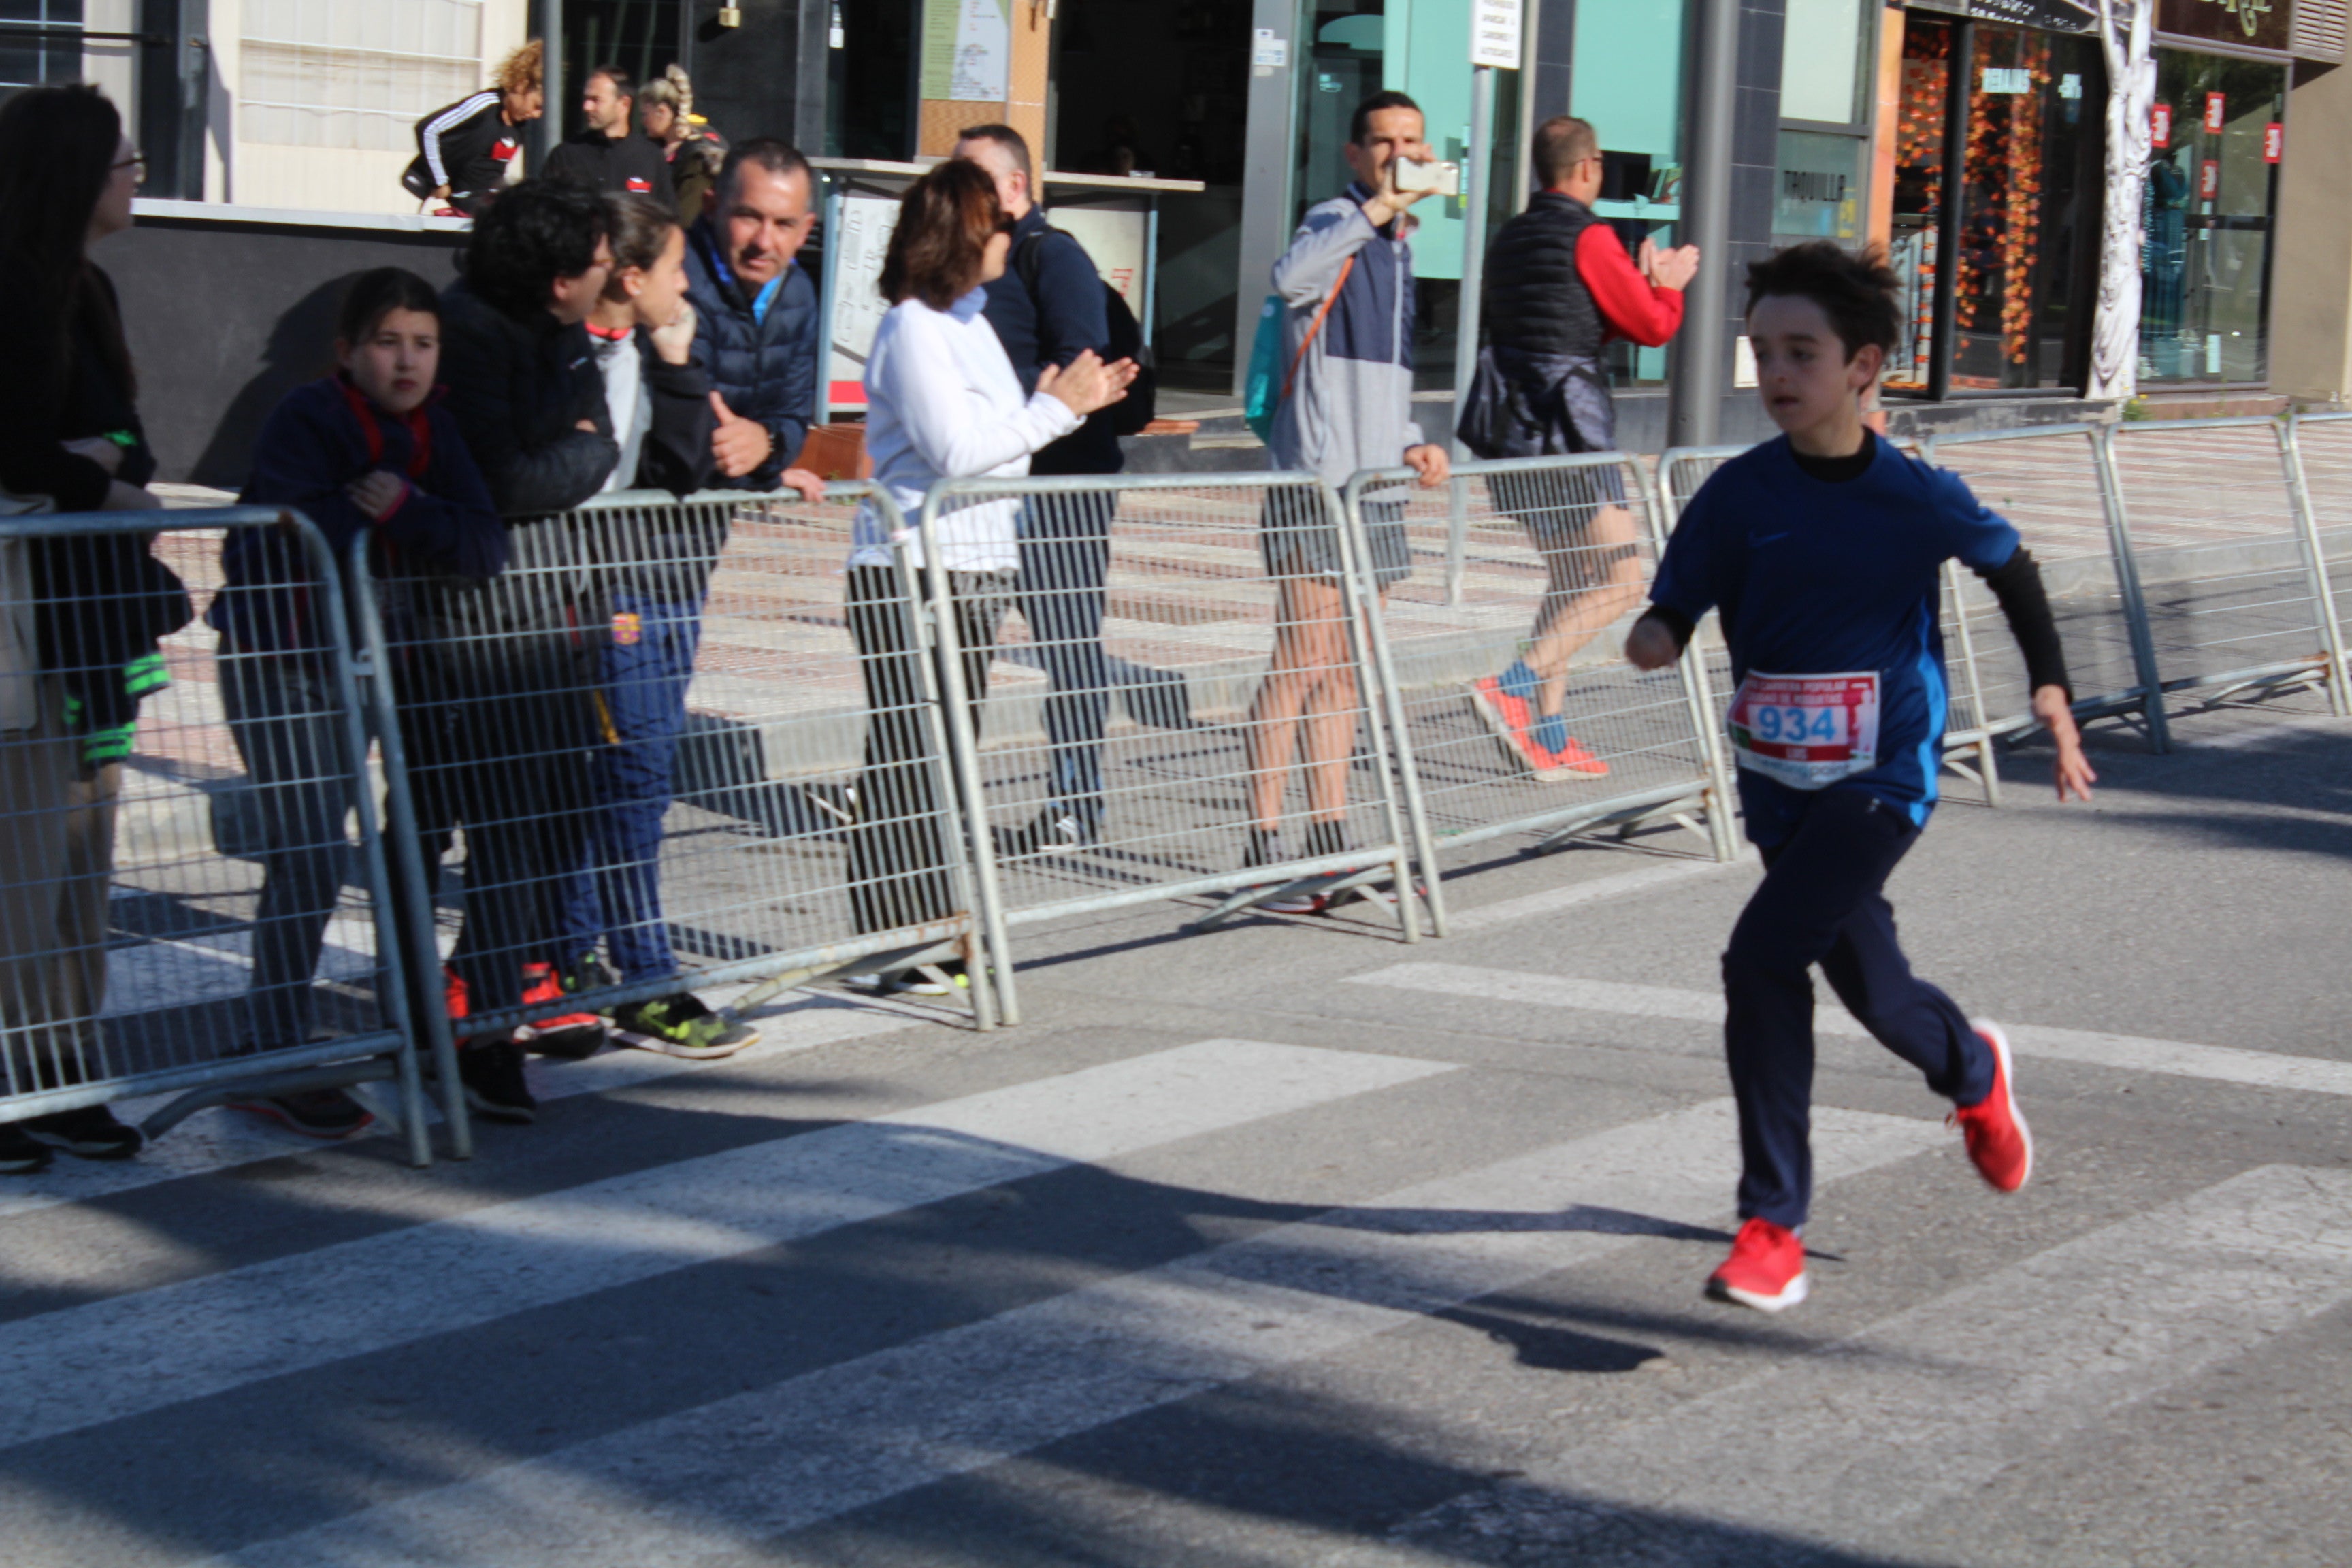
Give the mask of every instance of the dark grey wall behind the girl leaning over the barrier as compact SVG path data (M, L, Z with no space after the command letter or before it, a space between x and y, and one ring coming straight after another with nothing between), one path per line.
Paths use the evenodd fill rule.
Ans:
M334 317L353 275L405 266L456 277L461 233L139 219L94 252L122 294L139 416L174 482L245 482L261 421L334 369Z

